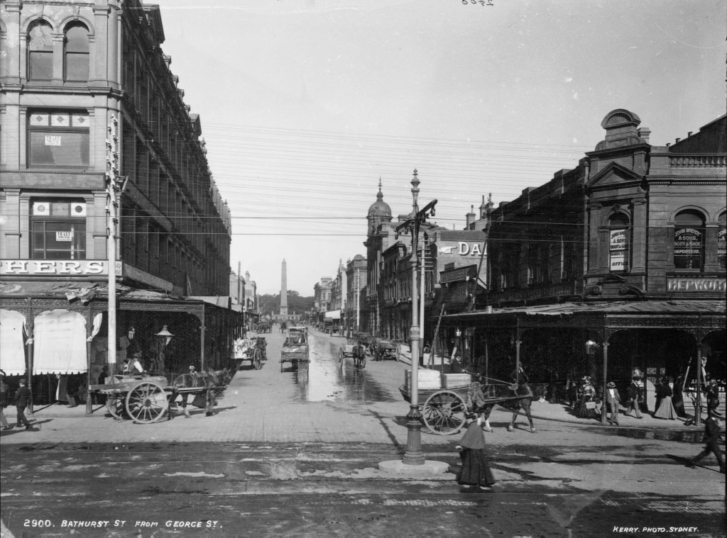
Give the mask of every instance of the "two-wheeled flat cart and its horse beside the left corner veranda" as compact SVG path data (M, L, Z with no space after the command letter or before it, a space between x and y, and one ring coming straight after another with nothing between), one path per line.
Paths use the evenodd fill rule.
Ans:
M180 380L187 377L199 378L200 381L186 383ZM222 381L223 386L217 386L217 378L207 373L177 376L173 385L169 385L163 375L113 375L107 381L103 385L92 385L89 388L106 396L106 409L113 417L130 418L137 424L155 423L164 415L168 420L171 419L169 404L180 394L183 396L183 407L186 407L186 396L190 394L205 395L206 405L209 407L214 404L217 392L224 390L227 385L225 380Z

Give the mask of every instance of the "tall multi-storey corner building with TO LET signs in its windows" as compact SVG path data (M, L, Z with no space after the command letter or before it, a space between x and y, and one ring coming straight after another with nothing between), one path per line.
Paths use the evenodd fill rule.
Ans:
M182 298L229 296L230 214L200 118L162 52L158 6L5 1L0 12L0 311L4 327L22 319L36 336L34 349L15 349L10 370L27 359L38 374L94 370L95 383L109 271L121 290L121 358L213 365L236 322L223 319L225 301ZM213 314L210 302L222 308ZM164 325L175 338L161 349ZM52 327L73 335L54 344L64 359L47 353Z

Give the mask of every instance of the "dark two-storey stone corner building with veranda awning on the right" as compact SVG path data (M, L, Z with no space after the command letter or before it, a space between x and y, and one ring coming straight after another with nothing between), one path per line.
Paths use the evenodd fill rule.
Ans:
M727 116L666 146L639 124L608 113L575 168L489 212L483 310L444 320L470 327L472 367L622 383L639 368L653 388L701 357L726 378Z

